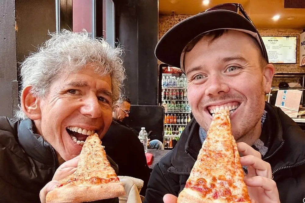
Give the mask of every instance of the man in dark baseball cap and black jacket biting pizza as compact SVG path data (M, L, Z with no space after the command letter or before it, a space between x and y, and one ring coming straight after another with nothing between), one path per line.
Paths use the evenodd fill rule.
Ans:
M242 6L217 5L181 21L160 39L155 53L186 74L194 118L154 167L145 202L176 202L219 108L230 110L251 200L302 202L305 133L281 109L265 103L274 66Z

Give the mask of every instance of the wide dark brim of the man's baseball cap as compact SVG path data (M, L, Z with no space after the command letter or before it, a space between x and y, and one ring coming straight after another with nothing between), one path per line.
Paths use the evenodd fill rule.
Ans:
M180 57L184 47L199 34L219 29L240 29L258 33L252 23L236 12L203 12L170 28L156 45L156 58L170 66L181 68Z

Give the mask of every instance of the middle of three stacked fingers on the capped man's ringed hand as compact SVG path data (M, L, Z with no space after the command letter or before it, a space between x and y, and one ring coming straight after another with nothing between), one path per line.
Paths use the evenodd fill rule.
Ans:
M269 163L263 161L260 158L257 158L256 156L253 155L247 155L247 156L242 156L240 157L240 164L242 166L248 166L248 171L250 172L250 167L253 167L253 169L255 170L254 173L256 174L249 174L251 176L264 176L267 178L271 178L272 177L272 171L271 171L271 166Z

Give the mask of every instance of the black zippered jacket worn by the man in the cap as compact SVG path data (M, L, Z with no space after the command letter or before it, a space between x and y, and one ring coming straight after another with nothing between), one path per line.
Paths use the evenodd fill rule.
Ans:
M264 158L270 163L281 203L302 203L305 198L305 133L281 109L266 104L262 134L272 135ZM145 202L163 203L165 194L178 196L197 159L201 142L195 119L187 125L175 148L154 167Z

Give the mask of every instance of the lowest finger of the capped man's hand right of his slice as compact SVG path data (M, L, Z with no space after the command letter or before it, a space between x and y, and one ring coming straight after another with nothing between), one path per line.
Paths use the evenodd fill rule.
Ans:
M255 177L251 177L251 178L245 177L244 181L245 181L246 185L249 187L263 188L265 194L271 200L279 202L278 188L276 187L276 183L274 182L274 180L267 178L267 177L255 176Z

